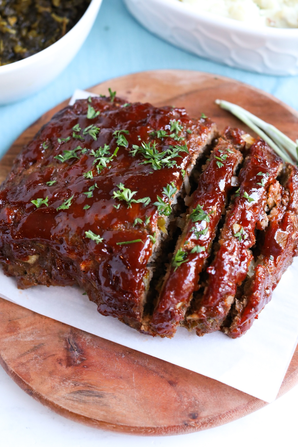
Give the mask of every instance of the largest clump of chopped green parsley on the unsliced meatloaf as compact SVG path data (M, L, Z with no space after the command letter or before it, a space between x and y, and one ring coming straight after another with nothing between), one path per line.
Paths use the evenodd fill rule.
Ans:
M181 157L179 152L189 153L186 144L184 146L179 146L176 144L175 146L168 146L162 152L159 152L156 149L156 142L153 143L145 143L142 142L141 146L137 146L133 144L133 150L130 153L135 156L137 153L143 155L146 159L141 164L151 164L151 167L155 170L161 169L162 167L172 168L173 166L177 166L176 160L173 160L176 157Z

